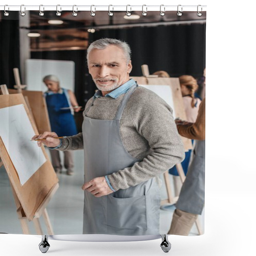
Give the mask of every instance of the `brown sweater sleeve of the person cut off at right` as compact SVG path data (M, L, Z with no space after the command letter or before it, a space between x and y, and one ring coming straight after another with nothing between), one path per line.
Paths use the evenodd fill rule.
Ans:
M194 140L205 140L205 98L202 100L196 122L191 125L177 125L181 136Z

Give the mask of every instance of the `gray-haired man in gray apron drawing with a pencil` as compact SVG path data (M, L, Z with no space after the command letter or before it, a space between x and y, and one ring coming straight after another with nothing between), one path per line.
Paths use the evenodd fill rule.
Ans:
M184 159L172 108L129 78L130 55L120 40L93 42L87 62L99 90L85 106L82 132L33 137L58 150L84 149L83 234L159 234L158 176Z

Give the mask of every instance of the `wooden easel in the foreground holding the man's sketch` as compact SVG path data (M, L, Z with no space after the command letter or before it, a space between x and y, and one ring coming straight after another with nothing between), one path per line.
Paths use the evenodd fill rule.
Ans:
M1 97L9 94L8 89L5 84L1 85L1 90L3 93L3 95L1 95ZM14 96L14 97L12 97L12 96ZM33 119L31 118L31 116L29 114L28 108L26 106L26 102L25 102L22 94L16 94L16 95L12 95L12 96L11 96L12 98L15 98L15 102L17 104L24 104L24 107L26 109L26 112L28 114L30 122L35 131L36 126L33 123ZM6 105L9 105L9 98L6 100L3 100L3 98L2 98L2 101L1 101L1 105L2 105L1 108L3 106L6 107ZM37 131L35 131L35 132L37 132ZM44 148L42 148L42 150L44 152L44 156L46 157L47 161L21 187L17 172L12 164L12 160L9 157L9 154L4 146L4 143L1 139L1 137L0 137L0 147L1 147L1 151L0 151L1 161L3 162L5 170L9 176L12 193L13 193L14 201L15 201L16 208L17 208L17 214L18 214L18 218L20 220L23 234L29 234L27 221L32 220L34 223L35 229L36 229L36 233L38 235L44 235L44 232L42 230L42 227L41 227L41 224L39 221L40 216L43 216L48 234L53 235L54 233L53 233L52 225L51 225L51 222L49 219L49 215L46 210L46 206L49 203L49 201L51 200L52 196L57 191L57 189L59 188L59 183L58 183L58 178L53 170L50 159L47 156ZM39 174L39 172L40 172L40 174ZM37 182L38 182L38 180L40 180L40 182L41 182L41 179L39 179L39 178L41 178L42 176L47 174L47 172L49 173L49 176L47 177L47 181L49 184L34 184L35 182L33 181L33 179ZM43 179L42 179L42 182L44 182ZM39 189L34 188L33 191L32 190L30 191L31 193L28 193L28 189L31 188L33 185L34 186L36 185L36 187L40 187L40 188ZM40 202L40 204L27 205L28 204L27 201L29 201L28 198L23 198L22 196L28 196L28 194L29 194L29 199L31 199L31 201L34 201L36 204L38 204L38 202ZM30 194L33 195L33 198L30 196ZM34 200L32 200L32 199L34 199ZM36 210L34 210L34 209L36 209Z

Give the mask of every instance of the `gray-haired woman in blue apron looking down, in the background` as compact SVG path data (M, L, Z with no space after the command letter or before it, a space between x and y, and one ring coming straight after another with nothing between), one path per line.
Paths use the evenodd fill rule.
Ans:
M52 132L56 132L60 137L77 134L73 115L74 111L78 112L81 107L78 107L75 94L70 90L60 88L60 81L56 76L45 76L43 82L48 88L44 96ZM51 148L50 153L55 172L61 173L62 165L60 163L59 151ZM67 169L68 175L74 173L73 152L70 150L64 151L64 167Z

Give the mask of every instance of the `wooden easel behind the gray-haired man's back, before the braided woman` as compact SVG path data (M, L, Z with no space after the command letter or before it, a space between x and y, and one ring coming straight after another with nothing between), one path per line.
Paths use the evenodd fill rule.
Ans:
M170 85L172 87L172 95L173 95L175 112L182 120L186 120L187 117L185 113L185 108L183 106L179 78L162 78L162 77L158 77L157 75L150 75L148 65L146 64L142 65L141 69L143 74L142 77L131 77L131 78L134 78L135 80L137 80L138 84ZM172 84L170 84L170 80L172 81ZM181 137L181 139L182 139L185 151L188 151L188 149L193 148L192 142L190 139L185 137ZM184 174L182 165L176 164L176 168L177 168L177 172L179 173L180 180L183 183L186 179L186 176ZM165 187L167 191L167 199L162 200L161 205L175 204L178 201L179 196L172 196L169 171L164 172L164 182L165 182ZM196 227L199 235L202 235L203 232L202 232L201 224L198 221L198 219L196 220Z

